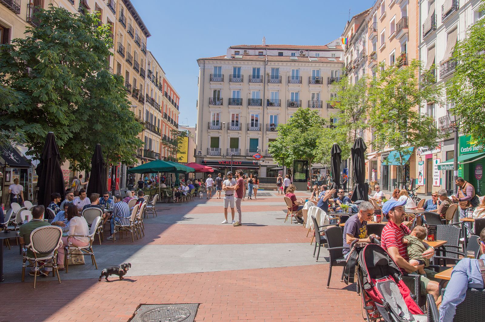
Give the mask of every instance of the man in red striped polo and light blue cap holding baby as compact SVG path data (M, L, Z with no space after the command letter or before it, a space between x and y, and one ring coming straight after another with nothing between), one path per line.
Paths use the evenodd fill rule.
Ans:
M382 213L388 219L387 225L382 230L381 234L381 246L386 249L392 259L396 262L403 273L415 273L419 274L418 268L424 265L414 266L409 263L409 257L407 256L407 248L403 243L403 237L409 235L411 231L407 228L404 222L404 201L388 200L382 207ZM430 259L433 257L435 250L433 247L429 247L424 253L423 257ZM421 293L426 295L429 293L438 298L439 284L436 280L433 280L436 272L425 269L426 276L421 276ZM404 278L404 282L407 284L407 278Z

